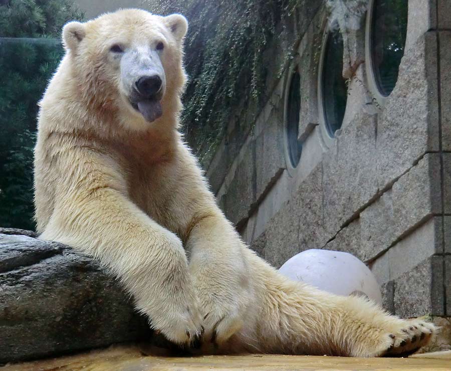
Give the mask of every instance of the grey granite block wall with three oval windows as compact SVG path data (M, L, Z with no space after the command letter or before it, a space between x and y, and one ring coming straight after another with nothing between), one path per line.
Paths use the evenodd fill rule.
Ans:
M270 263L280 267L311 248L350 252L376 275L385 307L407 317L451 314L449 4L409 0L398 80L382 102L373 99L367 76L366 14L347 29L348 100L332 140L324 136L318 101L328 12L321 6L308 20L293 15L286 48L268 53L266 104L255 121L237 113L206 171L227 217ZM297 53L278 78L274 60L286 58L291 45ZM295 64L303 150L293 168L284 110ZM243 127L252 129L243 135Z

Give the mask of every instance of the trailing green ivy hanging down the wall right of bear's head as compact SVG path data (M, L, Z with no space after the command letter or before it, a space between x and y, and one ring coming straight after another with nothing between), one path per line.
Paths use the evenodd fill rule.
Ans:
M212 155L237 107L260 104L264 52L281 37L277 26L304 0L147 0L156 14L181 13L189 22L182 130L203 163ZM321 3L321 2L320 2ZM287 50L287 58L289 58Z

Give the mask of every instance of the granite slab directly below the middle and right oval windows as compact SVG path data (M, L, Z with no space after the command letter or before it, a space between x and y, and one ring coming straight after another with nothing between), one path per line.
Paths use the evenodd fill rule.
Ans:
M378 192L376 122L359 111L323 156L325 227L335 235Z

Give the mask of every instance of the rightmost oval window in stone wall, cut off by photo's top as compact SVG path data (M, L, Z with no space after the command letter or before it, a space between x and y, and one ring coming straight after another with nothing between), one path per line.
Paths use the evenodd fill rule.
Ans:
M390 95L398 79L407 34L407 1L374 0L371 12L370 55L377 89Z

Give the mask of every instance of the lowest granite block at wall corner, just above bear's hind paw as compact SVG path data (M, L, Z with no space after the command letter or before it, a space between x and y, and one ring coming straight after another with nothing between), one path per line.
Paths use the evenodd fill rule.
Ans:
M443 257L427 258L394 280L394 308L401 317L443 315Z

